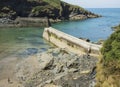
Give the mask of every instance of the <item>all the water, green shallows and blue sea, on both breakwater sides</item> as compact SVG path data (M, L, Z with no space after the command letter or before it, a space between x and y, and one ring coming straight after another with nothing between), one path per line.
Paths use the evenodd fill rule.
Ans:
M66 21L52 27L76 37L89 38L96 42L106 39L113 32L111 27L120 24L120 9L88 9L103 17L82 21ZM25 57L51 47L42 38L44 28L0 29L0 59L17 55Z

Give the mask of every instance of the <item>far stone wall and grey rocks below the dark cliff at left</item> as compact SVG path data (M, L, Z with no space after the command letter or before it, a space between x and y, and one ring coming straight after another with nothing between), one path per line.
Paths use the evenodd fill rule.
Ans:
M1 28L46 27L46 26L49 26L49 20L47 18L18 17L15 20L12 20L10 18L0 18Z

